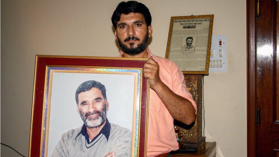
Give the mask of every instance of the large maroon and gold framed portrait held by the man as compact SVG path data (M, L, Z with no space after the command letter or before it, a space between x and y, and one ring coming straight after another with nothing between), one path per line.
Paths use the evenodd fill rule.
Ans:
M57 153L57 148L62 147L70 149L67 150L69 153L79 150L81 148L75 148L74 145L70 148L71 138L68 134L76 136L75 141L79 136L83 140L86 136L83 137L82 130L91 127L94 129L96 126L106 126L100 131L104 135L107 133L104 130L109 128L109 136L104 138L97 135L95 143L94 138L89 136L89 142L84 140L88 143L88 149L91 146L94 149L104 149L97 149L96 153L101 156L110 151L122 153L125 144L127 145L127 142L121 143L125 141L125 136L130 142L125 148L125 151L129 150L127 156L146 156L149 85L148 80L142 76L146 60L36 55L29 156L51 156ZM89 88L85 89L87 87ZM103 103L96 105L100 102ZM108 125L110 126L107 127ZM119 132L125 134L121 135ZM121 136L118 137L116 133ZM68 141L63 145L61 141L65 141L65 137ZM105 139L104 143L100 142L102 138ZM115 141L118 142L115 144ZM107 142L111 142L112 146L107 146ZM117 146L122 147L116 148Z

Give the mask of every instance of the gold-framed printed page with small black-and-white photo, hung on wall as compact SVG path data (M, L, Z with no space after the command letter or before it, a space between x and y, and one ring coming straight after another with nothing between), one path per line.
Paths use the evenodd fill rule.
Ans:
M208 75L214 15L171 17L166 57L184 74Z

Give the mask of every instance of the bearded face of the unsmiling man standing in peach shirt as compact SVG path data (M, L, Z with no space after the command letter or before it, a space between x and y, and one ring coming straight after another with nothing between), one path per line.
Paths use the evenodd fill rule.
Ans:
M115 38L122 51L128 55L143 52L151 37L152 27L146 25L141 13L121 14L116 23Z

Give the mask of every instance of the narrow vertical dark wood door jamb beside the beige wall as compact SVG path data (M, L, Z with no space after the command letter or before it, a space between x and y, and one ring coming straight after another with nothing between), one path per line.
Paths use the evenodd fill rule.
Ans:
M247 27L247 156L256 156L256 1L246 0Z

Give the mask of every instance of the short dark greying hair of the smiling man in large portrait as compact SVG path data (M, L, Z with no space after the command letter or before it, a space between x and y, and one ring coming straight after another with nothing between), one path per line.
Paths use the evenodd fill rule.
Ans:
M107 96L105 94L105 86L103 84L101 84L101 82L98 82L95 80L89 80L89 81L85 81L82 84L80 84L75 92L75 101L77 102L77 105L78 105L77 95L81 92L89 91L92 88L98 88L99 90L101 90L104 100L106 100Z

